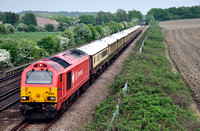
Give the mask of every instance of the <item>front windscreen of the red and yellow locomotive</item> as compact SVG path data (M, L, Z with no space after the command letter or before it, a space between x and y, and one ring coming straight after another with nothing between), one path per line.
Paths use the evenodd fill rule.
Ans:
M51 71L28 71L26 84L52 84L53 73Z

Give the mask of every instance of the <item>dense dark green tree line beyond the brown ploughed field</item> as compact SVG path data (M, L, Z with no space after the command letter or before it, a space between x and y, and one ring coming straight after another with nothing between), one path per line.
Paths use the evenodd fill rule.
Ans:
M200 18L200 6L171 7L167 9L152 8L146 15L147 23L154 20L167 21L191 18Z

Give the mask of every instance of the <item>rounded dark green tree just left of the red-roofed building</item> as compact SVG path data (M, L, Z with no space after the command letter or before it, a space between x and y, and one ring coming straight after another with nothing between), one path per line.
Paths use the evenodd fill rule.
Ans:
M23 17L22 17L23 23L26 25L37 25L37 20L36 17L33 13L26 13Z

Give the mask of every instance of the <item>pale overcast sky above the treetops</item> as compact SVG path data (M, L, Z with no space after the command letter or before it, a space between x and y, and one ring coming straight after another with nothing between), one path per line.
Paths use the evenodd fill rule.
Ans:
M0 0L0 11L116 12L136 9L146 14L151 8L200 5L200 0Z

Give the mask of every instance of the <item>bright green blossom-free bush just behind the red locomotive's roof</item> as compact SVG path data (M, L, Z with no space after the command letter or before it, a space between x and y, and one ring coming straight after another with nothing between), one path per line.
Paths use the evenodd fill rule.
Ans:
M37 45L45 49L49 54L53 54L62 50L60 44L56 42L53 36L46 36L38 41Z

